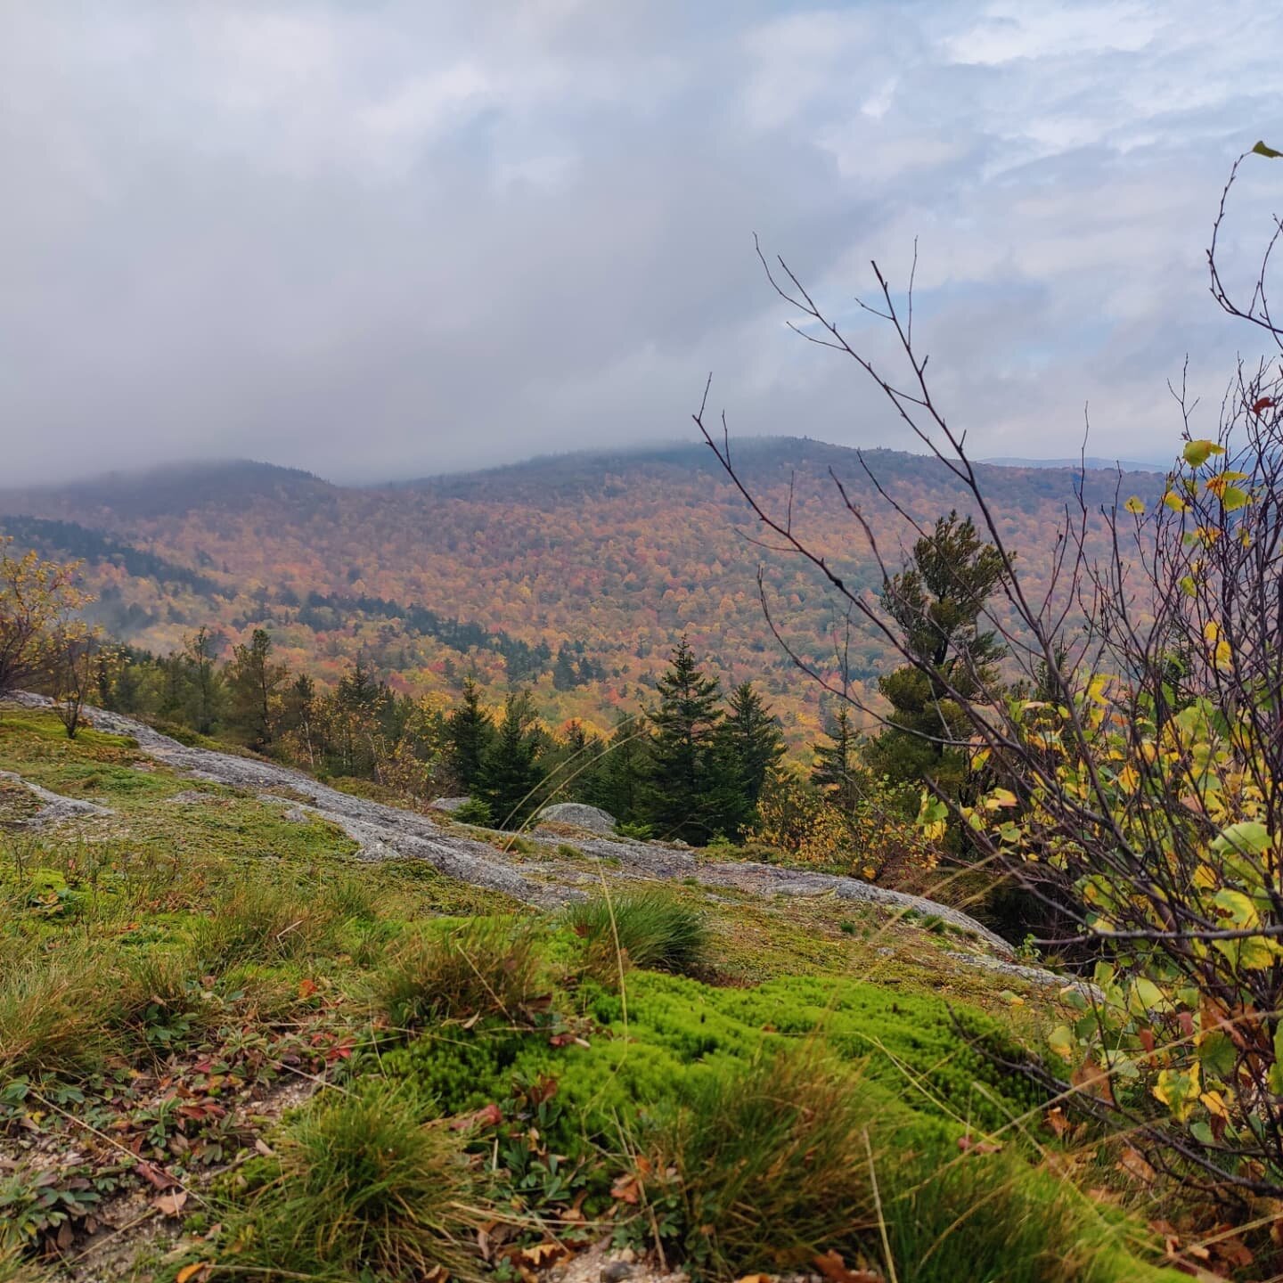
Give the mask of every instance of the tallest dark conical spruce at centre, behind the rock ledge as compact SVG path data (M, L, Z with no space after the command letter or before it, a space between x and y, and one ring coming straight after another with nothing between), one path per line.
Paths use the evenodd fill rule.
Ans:
M703 844L722 830L722 771L716 757L720 686L695 663L685 636L659 679L659 706L650 715L647 819L665 838Z

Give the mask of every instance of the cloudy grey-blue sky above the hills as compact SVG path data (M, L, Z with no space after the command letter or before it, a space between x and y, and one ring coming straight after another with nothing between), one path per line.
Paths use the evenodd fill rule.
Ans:
M798 339L917 245L978 457L1164 459L1259 336L1207 294L1283 148L1283 6L0 0L0 484L244 457L336 481L735 434L911 448ZM1277 167L1277 168L1275 168ZM1250 280L1283 205L1252 158ZM894 370L894 367L888 367Z

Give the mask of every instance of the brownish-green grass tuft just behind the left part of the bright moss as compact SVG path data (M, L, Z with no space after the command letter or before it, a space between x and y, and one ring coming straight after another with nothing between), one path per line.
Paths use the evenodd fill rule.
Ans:
M402 1030L481 1016L529 1023L547 1006L530 928L508 919L471 919L445 933L416 935L373 985L376 1006Z

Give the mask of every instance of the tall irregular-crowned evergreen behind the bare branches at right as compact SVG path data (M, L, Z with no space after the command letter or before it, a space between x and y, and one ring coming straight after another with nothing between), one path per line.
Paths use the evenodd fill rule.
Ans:
M912 561L887 585L883 602L917 661L878 683L890 713L865 761L893 784L931 780L953 794L962 788L966 762L947 742L966 738L966 717L948 688L973 695L996 681L1005 650L978 621L1005 577L1002 558L981 543L975 522L951 512L913 544Z

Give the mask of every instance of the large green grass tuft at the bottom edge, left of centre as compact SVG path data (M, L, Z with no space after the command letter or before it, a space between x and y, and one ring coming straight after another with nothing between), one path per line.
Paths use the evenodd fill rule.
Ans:
M232 1214L231 1261L266 1280L477 1274L481 1209L459 1133L411 1091L327 1093L276 1143L277 1170ZM471 1232L471 1234L470 1234Z

